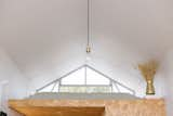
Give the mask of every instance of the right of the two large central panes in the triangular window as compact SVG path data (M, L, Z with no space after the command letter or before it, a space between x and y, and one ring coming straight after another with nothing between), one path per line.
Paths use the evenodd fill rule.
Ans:
M110 80L86 67L86 85L110 85Z

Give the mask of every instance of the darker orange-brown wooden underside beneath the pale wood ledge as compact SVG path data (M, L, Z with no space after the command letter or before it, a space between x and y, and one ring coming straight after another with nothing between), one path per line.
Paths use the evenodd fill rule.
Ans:
M102 116L105 107L25 106L16 111L26 116Z

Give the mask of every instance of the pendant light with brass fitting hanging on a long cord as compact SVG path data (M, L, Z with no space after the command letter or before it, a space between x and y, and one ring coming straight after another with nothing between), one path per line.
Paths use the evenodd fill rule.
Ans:
M90 61L91 57L89 56L91 53L91 44L90 44L90 0L88 0L88 40L86 40L86 61Z

